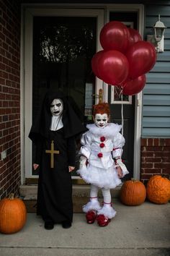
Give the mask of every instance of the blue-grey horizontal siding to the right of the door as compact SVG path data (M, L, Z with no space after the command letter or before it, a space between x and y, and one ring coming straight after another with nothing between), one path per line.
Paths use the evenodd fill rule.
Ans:
M144 40L153 33L152 27L161 15L166 25L164 53L158 53L151 72L146 74L143 89L142 137L170 137L170 1L146 5Z

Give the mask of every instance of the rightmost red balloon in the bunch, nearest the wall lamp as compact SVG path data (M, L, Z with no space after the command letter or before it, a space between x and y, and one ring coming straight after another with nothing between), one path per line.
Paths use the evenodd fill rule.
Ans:
M125 55L129 61L130 79L146 74L156 63L155 46L143 40L134 43L133 46L130 46Z

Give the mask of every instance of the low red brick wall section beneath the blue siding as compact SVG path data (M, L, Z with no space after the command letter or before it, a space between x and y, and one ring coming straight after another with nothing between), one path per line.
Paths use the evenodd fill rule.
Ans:
M170 175L170 139L141 139L140 179L146 184L153 174Z

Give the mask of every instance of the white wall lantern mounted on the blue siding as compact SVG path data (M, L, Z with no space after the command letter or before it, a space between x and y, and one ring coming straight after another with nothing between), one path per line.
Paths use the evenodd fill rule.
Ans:
M164 51L164 32L166 26L163 22L160 21L160 14L158 15L158 21L153 26L154 35L147 35L147 41L153 43L156 47L156 51L163 52Z

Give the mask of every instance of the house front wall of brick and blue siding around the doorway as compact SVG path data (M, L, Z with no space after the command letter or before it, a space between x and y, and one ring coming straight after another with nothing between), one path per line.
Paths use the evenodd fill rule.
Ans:
M0 0L0 153L6 150L6 158L0 158L0 197L6 197L10 192L18 194L20 185L20 2L48 2L44 0ZM58 3L60 1L50 1ZM61 1L61 3L70 1ZM74 1L74 3L91 4L101 1ZM112 4L127 4L127 1L104 1ZM158 14L166 26L170 27L170 1L166 4L149 5L151 1L130 1L130 4L145 4L146 7L146 27L145 36L150 33L153 23ZM161 3L161 1L156 1ZM164 1L165 3L165 1ZM160 11L161 10L161 11ZM166 19L166 20L164 20ZM144 38L146 40L146 38ZM169 95L170 83L170 29L166 29L165 51L158 54L156 66L147 75L147 85L143 93L143 129L141 139L141 176L140 179L146 182L153 174L169 174L169 139L163 139L162 120L164 128L169 125L170 111L164 111L165 101L162 99L156 108L151 100L155 95ZM164 90L164 93L162 91ZM167 97L166 97L167 98ZM156 100L158 102L158 98ZM149 102L149 104L148 104ZM153 102L153 101L152 101ZM168 101L166 101L168 102ZM154 114L151 111L153 108ZM150 111L150 113L149 113ZM145 114L147 113L147 114ZM155 116L155 113L159 113ZM166 114L165 114L166 113ZM151 118L152 117L152 118ZM156 124L157 123L157 124ZM166 123L166 124L165 124ZM155 125L156 124L156 125ZM160 126L161 125L161 126ZM149 129L148 129L149 128ZM154 129L153 129L154 128ZM155 129L156 128L156 129ZM169 128L169 127L168 127ZM155 133L153 133L153 130ZM168 130L168 129L166 129ZM157 138L155 138L157 137ZM169 135L165 136L169 137ZM1 156L1 155L0 155Z

